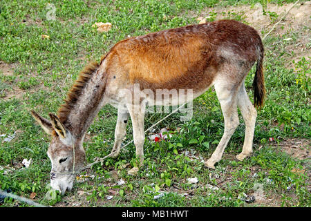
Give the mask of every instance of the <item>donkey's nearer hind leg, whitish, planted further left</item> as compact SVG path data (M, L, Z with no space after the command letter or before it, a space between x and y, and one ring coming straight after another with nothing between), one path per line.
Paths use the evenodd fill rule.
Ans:
M238 109L236 106L236 90L238 90L238 86L216 83L215 90L220 102L221 110L223 111L223 117L225 119L225 131L216 150L211 155L211 158L205 162L205 166L211 169L215 169L214 164L221 160L223 152L225 151L230 138L232 137L236 127L239 124Z

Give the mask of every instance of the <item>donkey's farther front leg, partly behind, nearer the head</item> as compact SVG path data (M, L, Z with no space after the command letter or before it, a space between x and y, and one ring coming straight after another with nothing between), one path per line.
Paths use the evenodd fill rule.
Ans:
M121 108L117 109L117 125L115 126L115 144L111 153L111 157L117 157L120 154L122 140L126 135L126 125L129 119L129 112Z

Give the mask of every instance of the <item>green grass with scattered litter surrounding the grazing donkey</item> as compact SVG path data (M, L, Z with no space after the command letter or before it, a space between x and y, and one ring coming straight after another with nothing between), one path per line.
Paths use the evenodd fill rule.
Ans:
M82 175L93 175L76 182L73 192L58 193L48 200L50 160L46 155L50 137L30 116L34 109L44 117L56 112L79 71L91 59L99 60L104 52L128 35L137 36L167 28L197 23L207 7L254 5L261 1L10 1L0 9L0 61L14 64L10 74L0 70L0 134L15 135L10 142L0 137L0 189L10 189L17 195L42 204L63 206L75 199L86 206L258 206L247 204L243 193L252 195L260 184L267 198L276 198L279 206L310 206L310 160L299 160L276 148L288 138L310 140L310 58L300 57L288 68L294 55L288 51L308 28L301 32L270 35L265 39L265 106L258 111L254 136L254 155L236 162L241 152L245 126L232 136L216 170L204 168L201 160L214 152L223 135L223 116L213 89L194 101L194 117L180 122L172 115L156 126L156 131L169 125L175 132L167 141L144 144L144 167L135 177L126 174L135 164L135 147L131 144L117 159L96 164ZM288 3L294 1L270 1ZM56 19L47 20L48 3L56 8ZM272 21L277 15L270 13ZM228 12L228 18L243 21L243 15ZM215 16L216 17L216 16ZM213 18L211 18L213 19ZM98 33L92 24L111 22L109 32ZM50 38L42 39L41 35ZM283 39L292 38L292 41ZM310 43L308 44L310 50ZM249 97L252 95L254 70L246 79ZM6 96L18 96L6 99ZM241 115L240 115L241 116ZM164 114L148 114L145 128ZM86 162L110 153L117 111L105 106L88 130L84 142ZM129 122L131 125L131 122ZM179 133L176 131L179 130ZM131 140L131 126L126 141ZM274 137L274 142L270 142ZM186 151L192 155L189 157ZM191 154L190 154L191 155ZM202 159L200 158L202 157ZM20 162L32 158L30 168ZM124 164L130 163L127 168ZM297 173L297 171L306 171ZM254 175L256 173L256 175ZM197 177L197 184L188 178ZM115 185L118 180L125 184ZM217 186L211 189L207 184ZM80 192L78 192L80 191ZM81 191L85 193L79 195ZM159 193L163 196L155 200ZM107 200L107 195L113 195ZM74 198L75 197L75 198ZM12 199L1 206L28 206Z

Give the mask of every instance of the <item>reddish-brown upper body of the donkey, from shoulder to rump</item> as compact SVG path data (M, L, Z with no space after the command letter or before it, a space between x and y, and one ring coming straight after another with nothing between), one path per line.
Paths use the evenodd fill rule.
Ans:
M132 37L111 51L117 51L130 81L142 88L191 88L196 93L226 69L248 70L263 45L254 28L221 20Z

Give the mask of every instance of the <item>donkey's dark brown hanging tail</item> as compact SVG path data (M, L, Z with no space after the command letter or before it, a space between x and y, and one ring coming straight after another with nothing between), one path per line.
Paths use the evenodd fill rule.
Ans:
M257 46L257 65L253 81L254 89L254 106L261 108L265 99L265 77L263 76L263 43L259 37L259 44Z

